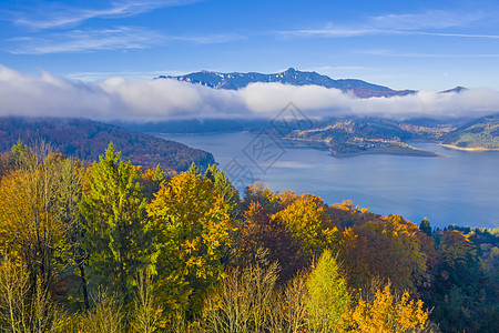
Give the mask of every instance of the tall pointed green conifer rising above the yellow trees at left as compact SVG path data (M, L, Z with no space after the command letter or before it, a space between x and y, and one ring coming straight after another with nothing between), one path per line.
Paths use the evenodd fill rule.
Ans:
M136 172L120 155L110 143L92 165L80 210L83 248L94 278L126 303L134 276L151 262L151 229Z

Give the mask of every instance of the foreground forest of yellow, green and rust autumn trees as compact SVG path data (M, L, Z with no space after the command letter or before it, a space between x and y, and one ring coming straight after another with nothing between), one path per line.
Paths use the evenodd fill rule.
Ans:
M499 230L235 190L47 143L0 155L2 332L499 332Z

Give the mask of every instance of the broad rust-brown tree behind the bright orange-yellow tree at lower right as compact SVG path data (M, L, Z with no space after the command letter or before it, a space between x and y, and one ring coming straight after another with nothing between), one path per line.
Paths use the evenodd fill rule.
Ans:
M346 229L339 254L350 285L361 287L379 276L390 280L396 290L415 291L429 279L419 233L416 224L397 215Z

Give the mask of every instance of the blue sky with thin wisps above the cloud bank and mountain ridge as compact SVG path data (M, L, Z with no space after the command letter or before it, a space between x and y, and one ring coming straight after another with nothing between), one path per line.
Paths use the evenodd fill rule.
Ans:
M288 67L499 89L498 1L1 0L0 64L71 80Z

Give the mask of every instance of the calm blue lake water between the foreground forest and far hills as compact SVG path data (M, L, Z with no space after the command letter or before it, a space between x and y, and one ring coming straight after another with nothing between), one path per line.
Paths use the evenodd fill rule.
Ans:
M157 137L213 153L237 183L264 182L274 191L319 195L327 203L352 199L378 214L399 214L432 226L499 226L499 153L461 152L435 143L413 145L440 158L360 155L336 159L327 150L248 132Z

